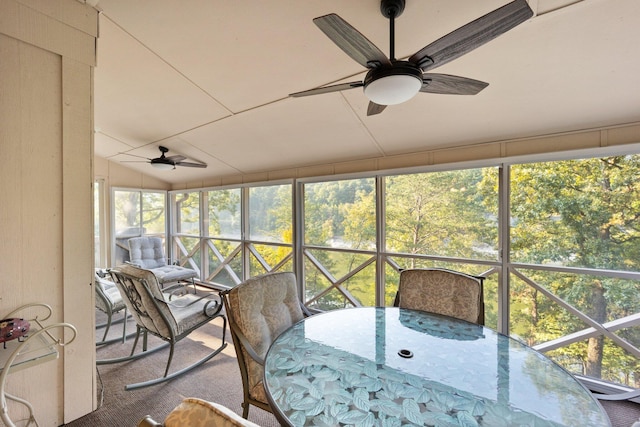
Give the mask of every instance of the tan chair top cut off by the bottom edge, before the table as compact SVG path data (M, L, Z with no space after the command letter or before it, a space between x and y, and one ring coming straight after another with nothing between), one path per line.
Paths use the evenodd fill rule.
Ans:
M226 406L188 397L164 421L165 427L258 427Z

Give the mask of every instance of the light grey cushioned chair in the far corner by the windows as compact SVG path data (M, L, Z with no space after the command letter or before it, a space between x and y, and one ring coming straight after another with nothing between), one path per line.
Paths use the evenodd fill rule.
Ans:
M160 286L168 283L189 281L192 284L198 272L191 268L167 263L160 237L132 237L127 241L129 246L129 263L136 267L150 270L158 278Z

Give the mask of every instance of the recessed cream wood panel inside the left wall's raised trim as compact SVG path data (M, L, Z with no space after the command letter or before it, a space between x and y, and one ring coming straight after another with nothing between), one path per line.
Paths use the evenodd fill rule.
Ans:
M11 100L0 102L2 152L9 157L0 168L0 306L8 312L44 302L54 310L52 320L62 321L61 60L1 34L0 45L0 92L3 100ZM56 425L62 423L61 366L56 361L12 374L8 387L34 404L39 420ZM26 415L20 405L9 408L14 418Z

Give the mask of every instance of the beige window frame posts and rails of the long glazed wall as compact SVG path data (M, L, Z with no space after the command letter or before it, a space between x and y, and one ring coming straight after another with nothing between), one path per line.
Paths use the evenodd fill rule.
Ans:
M499 256L496 260L482 260L482 259L467 259L467 258L457 258L457 257L448 257L448 256L436 256L436 255L411 255L414 258L418 258L423 261L428 262L452 262L452 263L462 263L462 264L473 264L482 268L481 273L487 276L495 276L497 278L497 300L498 300L498 312L497 312L497 325L495 328L504 334L509 335L509 317L510 317L510 281L513 277L518 277L521 280L527 281L526 275L523 275L521 270L553 270L558 272L572 273L572 274L585 274L585 275L606 275L608 277L617 277L627 280L634 280L640 282L640 271L610 271L610 270L601 270L601 269L589 269L589 268L575 268L575 267L560 267L560 266L549 266L549 265L531 265L525 263L512 262L510 259L511 248L510 248L510 226L509 226L509 218L510 218L510 206L509 206L509 193L510 193L510 172L511 167L517 164L524 163L537 163L537 162L558 162L564 160L577 160L577 159L585 159L585 158L602 158L602 157L610 157L610 156L620 156L620 155L637 155L640 153L640 144L633 144L627 146L616 146L616 147L601 147L596 149L587 149L587 150L575 150L570 152L557 152L557 153L545 153L540 155L528 155L521 157L511 157L511 158L501 158L501 159L485 159L485 160L476 160L476 161L468 161L468 162L456 162L450 164L437 164L437 165L427 165L413 168L402 168L402 169L390 169L390 170L379 170L379 171L369 171L369 172L357 172L357 173L349 173L349 174L335 174L329 176L315 176L315 177L304 177L304 178L296 178L291 180L279 180L279 181L263 181L263 182L254 182L247 183L241 185L229 185L229 186L218 186L218 187L208 187L203 189L193 189L187 191L215 191L225 188L240 188L241 189L241 200L242 200L242 218L243 218L243 226L242 226L242 236L240 239L240 250L242 251L242 274L237 277L237 282L239 283L242 280L246 280L251 272L248 270L246 265L248 264L248 256L251 248L251 244L253 243L264 243L264 242L253 242L248 239L248 212L246 211L246 206L248 205L248 193L251 188L259 187L259 186L268 186L268 185L280 185L282 183L288 183L292 188L292 227L293 227L293 242L292 242L292 251L293 251L293 270L299 278L299 288L300 294L305 295L305 271L304 271L304 257L305 250L308 249L327 249L320 248L314 245L306 245L305 242L305 213L304 213L304 193L305 193L305 185L311 183L321 183L328 181L339 181L345 179L361 179L361 178L374 178L375 179L375 187L376 187L376 250L375 251L357 251L363 252L367 255L374 257L373 263L375 264L375 276L376 276L376 284L375 284L375 304L380 306L385 304L385 287L384 282L386 280L385 271L388 268L398 269L397 263L394 262L394 258L398 256L403 256L391 252L387 252L385 247L385 233L384 233L384 214L386 210L384 195L385 195L385 180L388 176L391 175L400 175L400 174L413 174L413 173L434 173L434 172L445 172L445 171L453 171L459 169L470 169L470 168L484 168L484 167L496 167L498 168L498 251ZM185 190L177 191L184 192ZM173 192L169 192L170 194ZM201 200L204 198L201 197ZM201 211L203 212L203 211ZM171 216L171 210L169 210L169 217ZM202 227L202 230L207 230L206 227ZM202 233L201 233L202 234ZM170 235L170 234L168 234ZM205 236L207 237L207 236ZM353 251L352 251L353 252ZM241 277L240 277L241 276ZM545 292L543 286L536 284L535 282L529 283L530 286L534 287L540 292ZM603 325L599 325L590 321L588 318L585 318L579 310L571 307L570 305L566 305L561 298L553 295L547 295L553 299L554 303L562 305L572 314L578 316L580 319L584 320L586 323L586 327L593 327L597 331L602 332L607 338L616 339L612 337L612 331L608 331L606 327ZM303 301L305 302L305 301ZM493 326L493 325L491 325ZM570 340L571 338L567 338ZM534 346L538 350L544 352L553 348L557 348L558 345L562 345L562 339L554 340L553 343L542 343L540 345ZM568 341L565 341L568 342ZM626 345L622 342L616 342L620 344L625 350L629 351L631 354L640 359L640 350L633 345Z

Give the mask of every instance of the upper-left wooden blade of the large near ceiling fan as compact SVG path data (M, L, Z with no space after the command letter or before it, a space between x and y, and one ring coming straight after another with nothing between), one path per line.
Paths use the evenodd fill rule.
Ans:
M335 13L315 18L313 22L347 55L366 68L391 65L376 45Z

